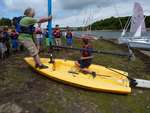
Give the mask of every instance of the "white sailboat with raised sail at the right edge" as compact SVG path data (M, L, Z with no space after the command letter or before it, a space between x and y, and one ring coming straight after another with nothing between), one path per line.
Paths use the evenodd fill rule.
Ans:
M140 3L134 4L133 16L127 22L121 37L118 39L119 44L128 44L132 48L149 49L150 37L144 36L146 33L145 16ZM127 34L128 27L130 33Z

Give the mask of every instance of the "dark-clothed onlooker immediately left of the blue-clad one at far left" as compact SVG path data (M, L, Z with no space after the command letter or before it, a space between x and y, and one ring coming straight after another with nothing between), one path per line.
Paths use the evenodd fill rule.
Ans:
M7 48L7 51L6 51L6 57L9 57L10 55L10 40L9 40L9 33L8 33L8 28L5 27L3 29L3 37L4 37L4 44Z

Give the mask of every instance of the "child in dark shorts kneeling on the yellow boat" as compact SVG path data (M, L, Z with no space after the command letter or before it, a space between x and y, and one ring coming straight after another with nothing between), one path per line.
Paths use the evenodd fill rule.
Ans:
M79 67L80 71L84 74L92 74L93 78L95 78L96 73L87 69L92 63L92 49L92 46L89 44L89 39L83 38L82 56L80 60L75 62L75 65Z

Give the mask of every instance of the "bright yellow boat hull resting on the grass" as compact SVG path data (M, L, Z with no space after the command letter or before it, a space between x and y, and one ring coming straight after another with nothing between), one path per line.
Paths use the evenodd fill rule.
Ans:
M131 93L127 72L117 69L110 69L100 65L91 65L89 70L96 72L97 76L93 78L91 74L83 74L74 66L74 61L55 59L55 65L49 64L49 58L41 58L47 69L35 68L31 57L25 58L25 61L38 73L51 79L63 82L65 84L102 92L117 94Z

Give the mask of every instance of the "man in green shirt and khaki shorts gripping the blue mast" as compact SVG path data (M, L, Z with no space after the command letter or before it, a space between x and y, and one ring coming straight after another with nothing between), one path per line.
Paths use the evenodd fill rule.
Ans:
M48 68L48 66L41 63L40 57L38 55L38 49L33 41L33 33L35 31L34 24L47 22L52 19L52 16L42 18L40 20L35 19L34 16L35 11L33 8L27 8L24 11L24 17L19 22L19 41L24 45L25 48L28 49L30 55L33 57L35 61L35 67L39 69L45 69Z

